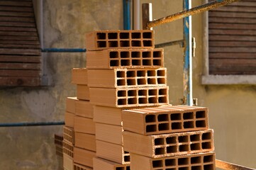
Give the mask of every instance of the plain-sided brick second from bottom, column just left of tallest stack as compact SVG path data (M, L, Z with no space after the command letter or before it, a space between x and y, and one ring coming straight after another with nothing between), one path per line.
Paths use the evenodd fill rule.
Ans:
M96 156L95 152L91 152L87 149L81 149L74 147L74 163L82 164L84 166L93 166L93 158Z

